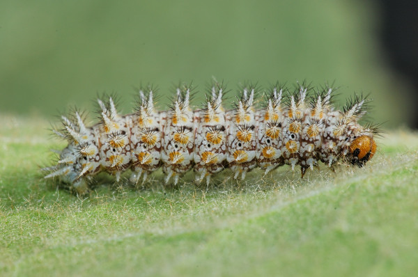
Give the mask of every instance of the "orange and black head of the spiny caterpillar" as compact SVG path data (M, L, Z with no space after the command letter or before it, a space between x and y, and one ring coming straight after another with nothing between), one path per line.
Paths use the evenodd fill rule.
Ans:
M359 136L350 145L351 164L362 167L376 152L376 142L371 136Z

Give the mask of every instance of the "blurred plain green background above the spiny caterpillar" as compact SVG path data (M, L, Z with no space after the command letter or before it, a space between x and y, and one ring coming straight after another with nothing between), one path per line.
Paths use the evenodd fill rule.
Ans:
M376 122L394 127L413 103L378 42L378 7L364 1L1 1L0 113L50 118L97 93L193 81L194 104L212 77L238 84L336 81L339 104L371 93ZM233 98L231 98L233 100Z

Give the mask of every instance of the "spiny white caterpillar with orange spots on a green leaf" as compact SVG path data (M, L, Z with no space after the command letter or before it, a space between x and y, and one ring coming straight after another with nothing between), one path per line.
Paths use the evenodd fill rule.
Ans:
M225 168L244 180L247 172L262 168L265 174L288 164L300 166L304 176L322 161L330 168L339 159L363 166L376 152L376 125L359 125L367 112L366 97L350 98L342 111L334 109L334 88L327 84L294 89L274 86L264 93L256 109L256 86L244 86L233 109L225 109L226 88L213 81L201 109L192 110L192 86L180 85L168 111L157 111L152 86L139 90L134 113L118 113L113 97L98 99L100 122L84 124L82 113L61 116L53 132L68 141L56 151L54 166L42 168L45 178L58 177L77 193L88 191L89 181L102 171L121 179L130 169L130 181L145 182L158 168L165 183L194 170L200 184Z

